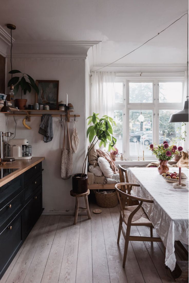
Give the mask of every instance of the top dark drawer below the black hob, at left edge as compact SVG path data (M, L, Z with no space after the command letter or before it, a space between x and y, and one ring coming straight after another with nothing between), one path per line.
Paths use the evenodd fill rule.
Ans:
M23 190L23 175L0 187L0 209Z

